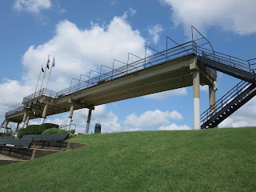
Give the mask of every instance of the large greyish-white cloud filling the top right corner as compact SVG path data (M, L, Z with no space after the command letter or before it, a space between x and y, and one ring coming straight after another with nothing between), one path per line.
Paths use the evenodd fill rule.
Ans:
M204 31L210 26L220 26L236 34L256 32L256 1L254 0L160 0L171 6L172 20L177 26L182 24L186 34L190 26Z

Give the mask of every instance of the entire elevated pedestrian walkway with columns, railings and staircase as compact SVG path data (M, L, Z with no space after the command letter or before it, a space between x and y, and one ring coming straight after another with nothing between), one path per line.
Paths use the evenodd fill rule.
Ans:
M127 62L117 69L113 66L109 72L104 74L100 72L96 77L89 76L88 80L79 81L78 84L65 90L58 92L47 89L38 90L23 98L22 103L10 107L6 111L6 122L22 122L24 126L29 119L42 118L44 121L46 116L70 111L68 122L70 124L74 110L88 108L88 126L94 106L193 86L194 127L196 126L196 129L211 128L234 112L234 110L232 113L224 112L225 115L223 115L218 111L223 112L227 110L225 107L234 104L229 104L230 99L224 99L222 107L216 108L219 106L219 101L215 103L216 70L241 78L249 83L246 84L247 86L251 85L246 93L242 94L246 87L235 93L240 95L239 98L246 97L242 104L236 103L237 106L242 106L256 93L254 67L246 60L207 50L194 41L156 52L145 58L139 58L135 62ZM199 85L208 85L210 88L210 108L201 115L201 120ZM250 94L250 97L247 94ZM236 107L236 110L239 107Z

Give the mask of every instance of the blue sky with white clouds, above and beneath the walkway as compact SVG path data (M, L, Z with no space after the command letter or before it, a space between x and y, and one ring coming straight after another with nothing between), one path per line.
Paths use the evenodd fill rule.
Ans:
M55 91L68 87L71 78L99 70L102 64L111 66L114 58L126 62L128 52L144 55L146 45L165 50L166 35L178 43L190 41L191 25L210 40L214 50L256 58L255 6L253 0L1 1L0 120L6 107L34 92L48 54L50 62L55 57L48 86ZM217 99L238 82L218 74ZM208 87L204 86L201 112L208 106ZM220 127L256 126L255 106L253 98ZM86 109L74 113L78 132L85 131L86 114ZM66 124L67 117L58 114L47 122ZM192 88L98 106L90 131L96 122L102 123L102 131L192 129Z

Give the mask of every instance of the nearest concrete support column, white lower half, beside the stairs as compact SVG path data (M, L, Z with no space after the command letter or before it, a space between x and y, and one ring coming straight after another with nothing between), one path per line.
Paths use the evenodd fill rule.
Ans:
M201 129L200 119L200 75L199 71L193 72L193 102L194 102L194 130Z

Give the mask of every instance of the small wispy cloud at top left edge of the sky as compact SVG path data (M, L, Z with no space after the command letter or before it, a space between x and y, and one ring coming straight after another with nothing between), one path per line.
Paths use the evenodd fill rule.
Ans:
M31 13L38 14L41 10L50 9L50 0L16 0L14 1L14 9L21 11L26 10Z

